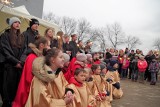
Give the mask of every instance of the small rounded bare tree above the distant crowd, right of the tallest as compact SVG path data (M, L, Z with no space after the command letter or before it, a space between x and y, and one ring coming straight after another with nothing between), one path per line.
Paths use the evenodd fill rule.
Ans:
M135 36L127 36L126 38L126 44L129 50L135 48L137 45L141 44L141 41L138 37Z

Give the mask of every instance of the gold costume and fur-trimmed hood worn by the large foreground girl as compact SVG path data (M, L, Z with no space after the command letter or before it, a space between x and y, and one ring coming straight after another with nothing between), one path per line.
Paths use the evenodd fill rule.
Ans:
M48 71L52 71L51 68L43 65L43 62L43 57L36 58L33 62L32 72L35 77L25 107L70 107L63 100L68 84L63 73L49 73Z

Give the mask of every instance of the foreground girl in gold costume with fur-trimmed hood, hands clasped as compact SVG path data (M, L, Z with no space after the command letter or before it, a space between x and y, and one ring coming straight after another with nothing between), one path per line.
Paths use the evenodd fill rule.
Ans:
M71 107L74 97L59 70L64 65L62 51L52 48L43 54L33 61L34 78L25 107Z

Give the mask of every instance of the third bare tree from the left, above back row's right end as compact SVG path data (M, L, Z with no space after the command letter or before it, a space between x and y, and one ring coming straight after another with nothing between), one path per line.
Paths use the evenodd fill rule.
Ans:
M78 40L83 40L90 32L91 24L85 18L79 19L77 24Z

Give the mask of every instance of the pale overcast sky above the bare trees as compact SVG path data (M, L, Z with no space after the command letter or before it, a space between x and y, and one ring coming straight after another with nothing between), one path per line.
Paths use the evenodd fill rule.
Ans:
M86 18L95 27L118 22L126 35L137 36L144 51L160 36L160 0L44 0L44 13Z

